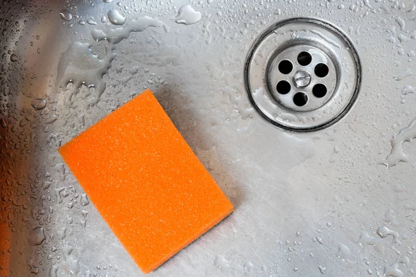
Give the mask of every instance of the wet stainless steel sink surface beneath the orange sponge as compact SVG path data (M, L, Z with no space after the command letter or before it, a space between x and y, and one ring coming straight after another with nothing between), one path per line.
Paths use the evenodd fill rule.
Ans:
M415 274L413 1L3 0L0 10L0 276L142 275L56 150L147 88L235 206L150 276ZM298 70L298 52L316 48L335 61L329 93L355 94L331 124L309 128L353 94L311 100L312 67L295 77L260 66L248 74L271 84L248 89L253 48L293 18L351 44L333 55L305 39L326 31L288 28L256 57ZM280 56L283 38L297 44ZM345 60L354 51L360 82ZM288 94L275 91L282 78Z

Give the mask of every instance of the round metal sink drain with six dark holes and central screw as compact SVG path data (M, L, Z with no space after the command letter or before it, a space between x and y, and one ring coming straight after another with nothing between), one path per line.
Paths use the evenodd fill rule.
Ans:
M309 132L336 123L352 108L361 63L336 26L320 19L287 19L252 46L245 85L254 107L270 123Z

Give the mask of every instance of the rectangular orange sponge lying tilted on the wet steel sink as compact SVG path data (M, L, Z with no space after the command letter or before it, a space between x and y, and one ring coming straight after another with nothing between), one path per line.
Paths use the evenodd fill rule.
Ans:
M58 152L146 274L233 211L150 90Z

